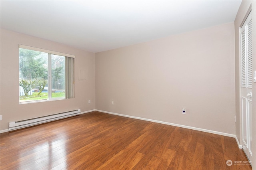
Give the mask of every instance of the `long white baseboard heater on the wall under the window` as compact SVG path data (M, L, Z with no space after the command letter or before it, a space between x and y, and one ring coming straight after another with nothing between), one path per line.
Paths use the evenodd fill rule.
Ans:
M80 115L81 110L74 110L74 111L69 111L69 112L64 112L64 113L58 113L55 115L49 115L49 116L44 116L44 117L38 117L34 119L28 119L24 121L18 121L18 122L9 122L9 130L15 130L19 128L24 128L24 127L30 127L33 125L38 125L41 123L46 123L50 121L55 121L58 119L64 119L66 117L72 117L76 115Z

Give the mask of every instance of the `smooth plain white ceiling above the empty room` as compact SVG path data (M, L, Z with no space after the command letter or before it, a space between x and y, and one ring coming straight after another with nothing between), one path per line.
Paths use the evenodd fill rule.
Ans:
M1 28L91 52L234 22L241 0L8 0Z

